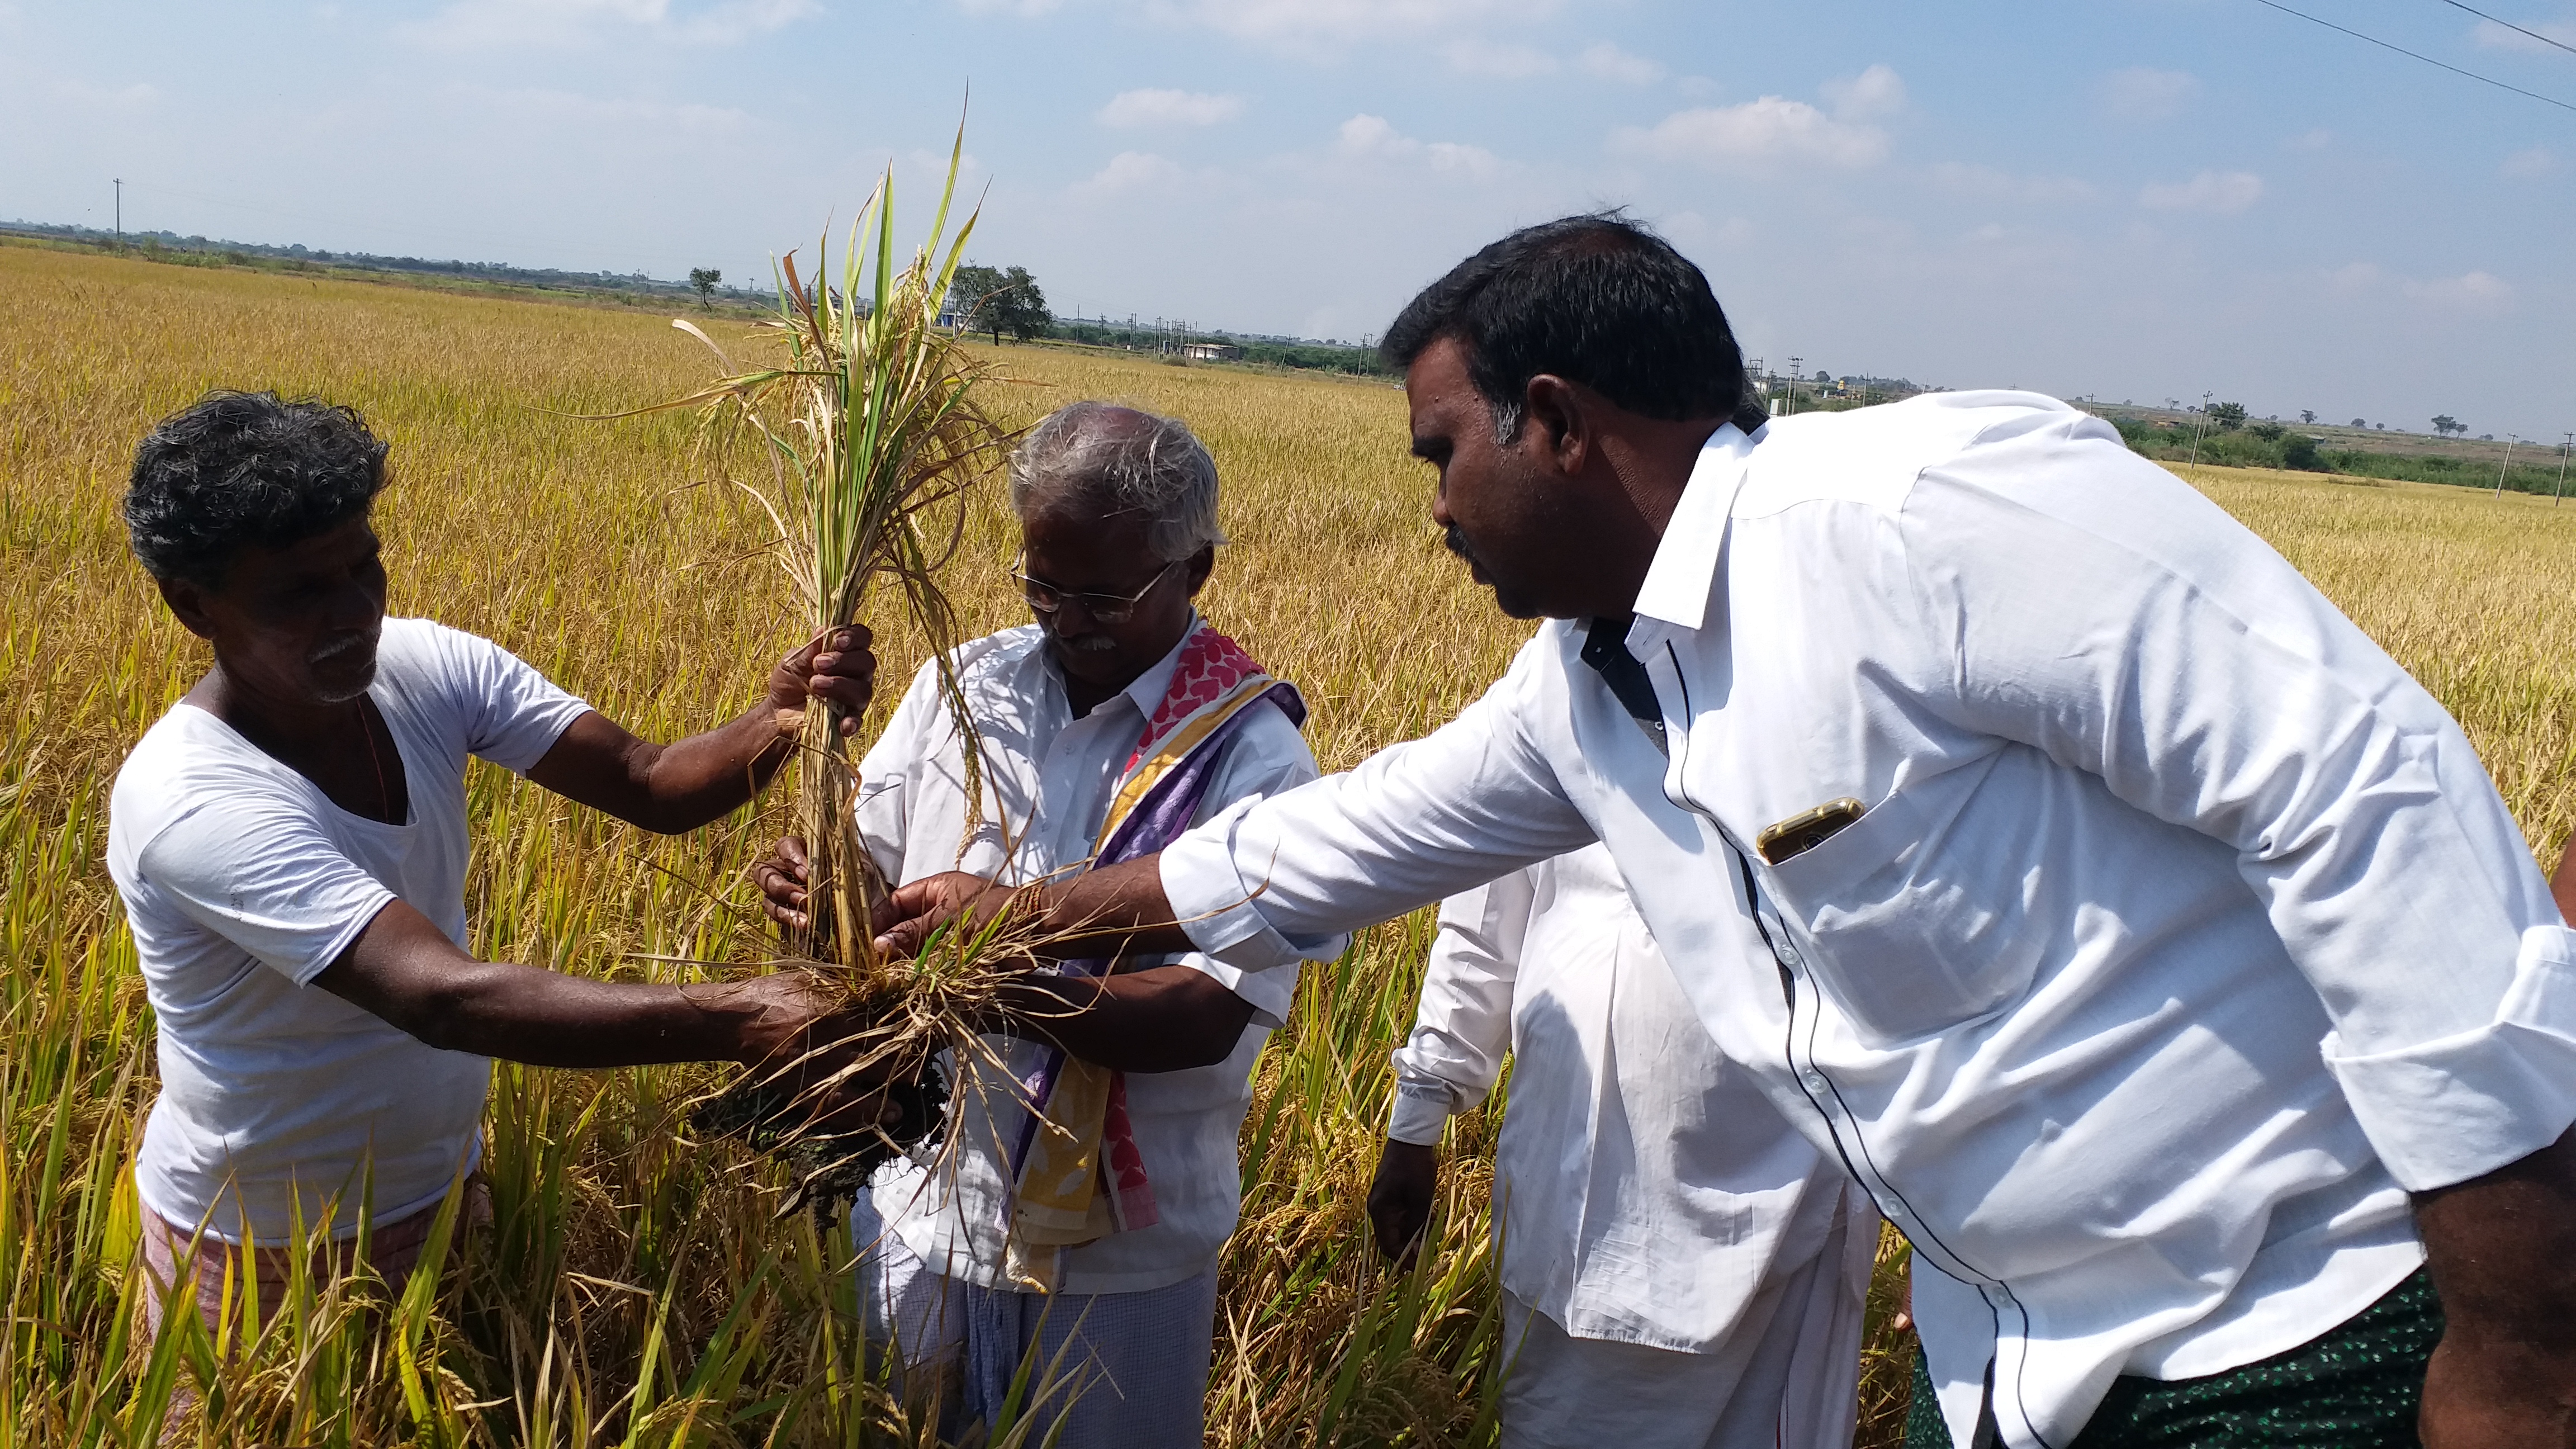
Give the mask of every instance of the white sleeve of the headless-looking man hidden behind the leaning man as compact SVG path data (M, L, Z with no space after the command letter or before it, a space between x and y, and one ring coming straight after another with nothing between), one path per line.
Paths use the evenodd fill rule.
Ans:
M1512 1047L1512 993L1530 933L1533 871L1512 871L1440 902L1440 936L1422 969L1414 1031L1396 1047L1386 1134L1440 1142L1440 1127L1494 1091Z

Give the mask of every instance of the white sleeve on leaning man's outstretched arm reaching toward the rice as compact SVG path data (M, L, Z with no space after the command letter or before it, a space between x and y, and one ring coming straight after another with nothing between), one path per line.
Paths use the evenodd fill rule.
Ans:
M1553 668L1540 634L1432 735L1236 804L1164 848L1162 890L1190 941L1239 969L1327 959L1350 931L1589 846L1592 825L1528 730Z

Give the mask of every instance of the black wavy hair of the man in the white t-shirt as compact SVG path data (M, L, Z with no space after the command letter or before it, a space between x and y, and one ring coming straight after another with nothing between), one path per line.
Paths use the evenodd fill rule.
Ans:
M126 536L157 580L222 588L234 554L363 518L386 446L355 407L276 392L209 392L134 449Z

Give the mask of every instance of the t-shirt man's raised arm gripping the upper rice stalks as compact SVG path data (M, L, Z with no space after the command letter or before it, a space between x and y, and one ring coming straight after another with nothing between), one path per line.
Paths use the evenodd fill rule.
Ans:
M840 709L842 737L858 735L876 683L876 655L860 624L827 629L778 660L770 688L742 717L672 745L639 740L590 712L536 761L528 779L662 835L696 830L747 804L796 750L806 704Z

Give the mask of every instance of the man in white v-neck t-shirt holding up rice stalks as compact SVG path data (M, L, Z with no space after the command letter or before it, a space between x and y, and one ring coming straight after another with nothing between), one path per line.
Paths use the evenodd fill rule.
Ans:
M809 701L868 704L866 629L796 650L732 724L652 745L500 645L386 619L368 511L386 443L345 407L219 392L134 456L134 554L214 665L126 755L108 874L160 1026L134 1183L160 1297L191 1258L276 1305L299 1230L374 1225L410 1269L474 1168L492 1057L554 1067L791 1062L801 977L600 982L466 951L469 755L647 830L747 802ZM829 647L824 647L829 645ZM301 1250L304 1245L296 1245Z

